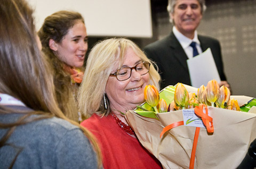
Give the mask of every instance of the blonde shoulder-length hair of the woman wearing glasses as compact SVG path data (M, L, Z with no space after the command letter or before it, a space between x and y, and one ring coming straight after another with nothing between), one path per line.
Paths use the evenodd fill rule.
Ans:
M110 113L109 103L107 102L108 108L105 109L103 98L107 80L114 69L114 63L118 62L121 68L125 52L130 47L142 61L150 63L149 84L159 89L160 75L154 63L136 44L125 38L103 40L92 48L88 56L83 82L78 91L78 108L86 117L90 117L93 113L102 115Z

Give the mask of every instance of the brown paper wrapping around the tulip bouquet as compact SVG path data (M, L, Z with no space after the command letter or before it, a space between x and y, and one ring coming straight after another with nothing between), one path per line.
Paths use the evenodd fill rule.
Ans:
M198 169L236 168L256 138L256 114L208 107L214 132L200 129L195 167ZM159 137L163 128L183 121L182 111L157 114L159 121L143 117L134 111L126 113L141 144L162 163L164 168L189 168L195 127L177 126Z

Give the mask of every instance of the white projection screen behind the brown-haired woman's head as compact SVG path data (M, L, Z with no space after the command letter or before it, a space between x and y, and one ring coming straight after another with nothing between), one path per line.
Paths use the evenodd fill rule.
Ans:
M27 0L35 9L36 29L46 16L80 12L89 36L152 37L150 0Z

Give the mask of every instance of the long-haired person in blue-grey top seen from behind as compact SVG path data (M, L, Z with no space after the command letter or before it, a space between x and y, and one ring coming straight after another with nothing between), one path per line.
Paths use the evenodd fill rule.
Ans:
M33 10L1 0L0 13L0 168L98 168L94 137L55 101Z

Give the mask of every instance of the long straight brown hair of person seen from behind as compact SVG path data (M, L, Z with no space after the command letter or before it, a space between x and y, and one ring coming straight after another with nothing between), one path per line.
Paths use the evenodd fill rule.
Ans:
M1 0L0 13L3 23L0 24L0 92L21 100L34 110L29 113L19 111L24 115L17 123L0 123L0 128L9 129L0 139L0 148L5 145L17 126L57 116L83 131L92 142L100 165L100 149L93 135L78 123L68 120L58 107L49 66L37 46L33 10L23 0ZM0 114L12 112L11 108L0 106ZM27 117L33 114L41 116L27 120Z

